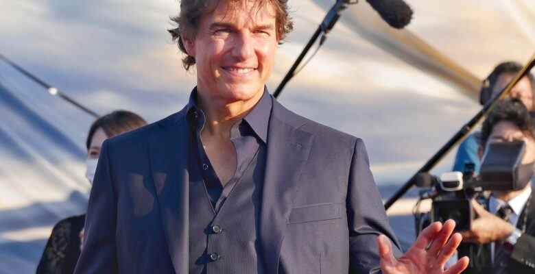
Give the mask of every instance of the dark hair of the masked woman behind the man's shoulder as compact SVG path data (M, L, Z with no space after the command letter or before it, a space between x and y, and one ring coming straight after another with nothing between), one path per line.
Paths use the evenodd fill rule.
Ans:
M104 130L104 133L106 133L106 136L111 138L123 132L129 132L138 127L143 127L143 125L147 125L147 122L138 114L127 110L115 110L110 114L99 117L99 119L91 124L87 134L86 148L89 150L93 135L95 135L97 129L101 127Z

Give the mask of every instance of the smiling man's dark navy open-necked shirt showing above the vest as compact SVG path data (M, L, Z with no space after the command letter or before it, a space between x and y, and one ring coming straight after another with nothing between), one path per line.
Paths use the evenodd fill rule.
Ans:
M259 152L259 148L265 149L268 139L268 123L272 108L272 99L264 90L263 96L254 108L240 121L237 121L230 129L230 140L233 142L236 151L237 165L233 177L226 184L221 182L215 169L204 151L200 138L202 129L206 124L206 116L199 108L197 99L197 89L193 89L189 97L187 107L187 119L191 129L192 147L189 155L194 164L198 164L200 175L206 184L210 201L215 212L218 212L222 204L233 190L234 186L241 180L243 173L247 169L255 169L250 166L252 163L258 164L263 161L253 161Z

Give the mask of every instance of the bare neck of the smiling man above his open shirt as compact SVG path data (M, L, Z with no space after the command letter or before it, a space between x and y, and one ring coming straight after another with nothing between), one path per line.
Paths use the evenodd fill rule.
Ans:
M202 135L230 139L230 129L254 108L254 105L260 101L262 95L263 91L257 92L247 100L229 102L223 99L204 97L199 92L198 102L206 115L206 123Z

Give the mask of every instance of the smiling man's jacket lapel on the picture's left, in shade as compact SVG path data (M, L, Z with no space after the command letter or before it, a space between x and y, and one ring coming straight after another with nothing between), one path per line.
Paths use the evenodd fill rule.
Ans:
M184 112L161 121L162 130L150 138L149 145L158 206L177 274L186 274L189 268L189 134Z

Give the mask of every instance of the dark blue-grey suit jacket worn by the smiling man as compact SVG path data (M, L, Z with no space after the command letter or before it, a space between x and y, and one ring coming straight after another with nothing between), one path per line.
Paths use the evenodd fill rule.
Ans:
M188 272L188 144L185 110L104 142L75 273ZM368 273L377 235L399 247L362 140L275 99L261 197L265 273Z

